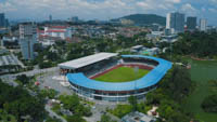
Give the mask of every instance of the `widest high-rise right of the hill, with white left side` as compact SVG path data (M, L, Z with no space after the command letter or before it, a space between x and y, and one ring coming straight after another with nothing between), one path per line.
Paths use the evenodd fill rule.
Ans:
M167 14L166 28L171 29L174 32L184 31L184 14L175 12Z

